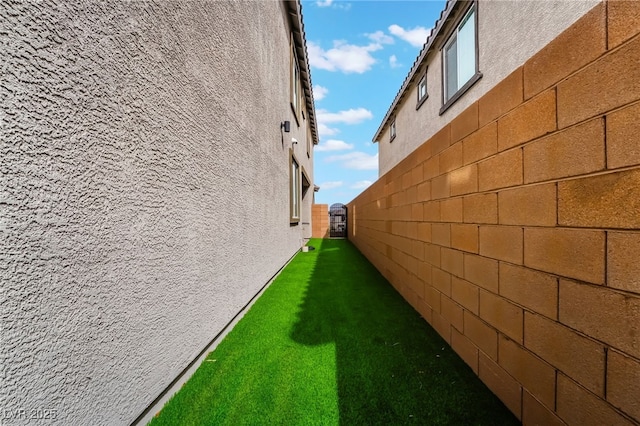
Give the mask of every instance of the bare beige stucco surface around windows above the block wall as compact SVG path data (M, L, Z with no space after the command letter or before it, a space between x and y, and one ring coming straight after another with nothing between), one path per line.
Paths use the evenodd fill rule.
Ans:
M387 173L469 105L502 81L600 0L489 0L478 4L479 69L483 77L443 115L440 43L426 58L429 98L416 111L416 82L396 110L397 136L388 125L378 141L379 176Z

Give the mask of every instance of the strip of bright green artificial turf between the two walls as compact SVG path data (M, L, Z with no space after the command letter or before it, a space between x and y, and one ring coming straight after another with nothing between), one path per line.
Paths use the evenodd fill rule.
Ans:
M151 425L518 424L346 240L311 240Z

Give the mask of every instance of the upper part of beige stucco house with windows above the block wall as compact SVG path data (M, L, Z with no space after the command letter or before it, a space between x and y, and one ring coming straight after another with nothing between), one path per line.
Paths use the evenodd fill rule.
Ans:
M449 0L373 136L379 176L598 3Z

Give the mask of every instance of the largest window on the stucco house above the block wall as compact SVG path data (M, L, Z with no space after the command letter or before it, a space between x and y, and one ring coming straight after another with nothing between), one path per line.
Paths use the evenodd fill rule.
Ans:
M476 6L465 13L443 49L444 106L442 114L482 75L478 72Z

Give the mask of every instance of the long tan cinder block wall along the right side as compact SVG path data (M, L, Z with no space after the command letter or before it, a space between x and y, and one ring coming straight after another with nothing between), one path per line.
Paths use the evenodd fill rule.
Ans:
M349 205L525 424L640 422L640 3L604 2Z

